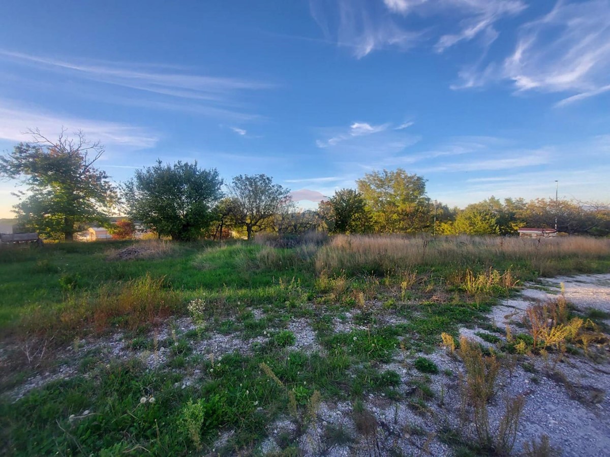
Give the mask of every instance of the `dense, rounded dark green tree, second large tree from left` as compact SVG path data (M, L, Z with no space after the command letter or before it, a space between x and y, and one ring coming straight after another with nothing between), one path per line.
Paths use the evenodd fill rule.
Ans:
M215 168L200 169L196 161L163 165L157 160L124 183L123 200L134 221L159 235L190 240L199 238L215 220L222 184Z

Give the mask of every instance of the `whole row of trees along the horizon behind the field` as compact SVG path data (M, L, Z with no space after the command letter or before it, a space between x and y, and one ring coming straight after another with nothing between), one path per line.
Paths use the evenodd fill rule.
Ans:
M265 174L239 175L225 183L217 169L198 163L164 164L135 171L115 186L96 168L104 153L78 132L65 131L49 140L38 130L34 141L20 143L0 156L0 175L21 180L14 211L23 228L47 238L71 240L85 224L109 225L109 214L120 212L159 236L190 240L225 238L241 232L248 239L261 231L299 234L436 233L439 235L511 235L520 227L553 228L559 232L607 236L610 209L565 199L504 199L490 197L464 209L432 201L426 179L404 169L373 171L356 180L356 189L337 190L317 210L298 211L290 190ZM117 236L128 236L133 222L113 225Z

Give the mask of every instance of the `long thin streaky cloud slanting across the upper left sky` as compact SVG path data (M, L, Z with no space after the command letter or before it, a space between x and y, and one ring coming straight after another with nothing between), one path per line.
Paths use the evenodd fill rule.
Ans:
M39 90L49 85L52 90L70 91L70 94L104 103L179 110L235 120L259 117L247 113L246 97L275 87L251 79L207 76L198 74L195 68L174 65L57 58L6 49L0 49L0 63L9 68L5 73L20 80L21 85L38 86ZM42 76L24 72L26 66ZM53 74L61 77L53 80ZM91 90L92 84L96 85L95 90ZM79 86L82 90L78 90Z

